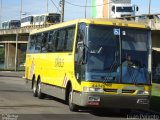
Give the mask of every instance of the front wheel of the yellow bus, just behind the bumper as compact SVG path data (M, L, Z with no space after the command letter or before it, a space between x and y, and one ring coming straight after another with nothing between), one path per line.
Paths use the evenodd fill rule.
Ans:
M69 91L69 94L68 94L68 105L69 105L69 109L70 111L73 111L73 112L77 112L79 110L79 106L78 105L75 105L73 103L73 91L72 91L72 88L70 89Z

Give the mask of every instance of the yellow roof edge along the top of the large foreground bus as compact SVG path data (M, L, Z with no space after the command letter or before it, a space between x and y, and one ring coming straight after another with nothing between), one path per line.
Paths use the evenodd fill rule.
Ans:
M76 20L71 20L71 21L67 21L63 23L58 23L58 24L55 24L55 25L52 25L46 28L35 29L35 30L32 30L30 34L32 35L32 34L45 32L45 31L52 30L52 29L63 28L66 26L77 24L77 23L112 25L112 26L119 26L119 27L132 27L132 28L143 28L143 29L149 28L147 25L142 24L142 23L139 24L136 22L129 22L129 21L119 20L119 19L101 19L101 18L99 19L76 19Z

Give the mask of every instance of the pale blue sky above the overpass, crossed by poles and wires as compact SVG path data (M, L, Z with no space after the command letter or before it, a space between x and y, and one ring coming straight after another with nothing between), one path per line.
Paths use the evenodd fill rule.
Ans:
M60 0L48 0L48 11L59 12L54 4L60 9ZM76 5L84 6L86 0L66 0ZM92 0L87 0L87 5L90 6ZM132 0L132 4L139 6L139 12L137 14L148 14L149 0ZM20 19L21 0L2 0L2 9L0 10L0 16L2 21ZM22 13L27 15L43 14L47 12L47 0L22 0ZM151 0L151 13L160 13L160 0ZM91 8L87 7L87 18L91 17ZM23 17L23 15L22 15ZM65 21L84 18L85 8L73 6L65 3Z

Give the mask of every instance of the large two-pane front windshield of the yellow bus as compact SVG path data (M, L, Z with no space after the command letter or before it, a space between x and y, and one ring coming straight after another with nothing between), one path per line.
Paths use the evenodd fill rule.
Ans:
M120 55L120 41L114 35L113 29L114 27L108 26L89 26L85 79L111 83L149 84L149 32L121 28L126 35L122 38ZM124 63L120 70L120 61L129 62L127 57L130 57L132 64L126 67Z

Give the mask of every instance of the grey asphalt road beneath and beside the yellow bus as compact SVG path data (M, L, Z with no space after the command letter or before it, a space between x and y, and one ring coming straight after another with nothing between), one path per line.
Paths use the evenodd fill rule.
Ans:
M0 120L156 120L155 113L132 111L121 115L117 110L81 110L70 112L64 101L48 97L40 100L33 97L23 73L0 72Z

